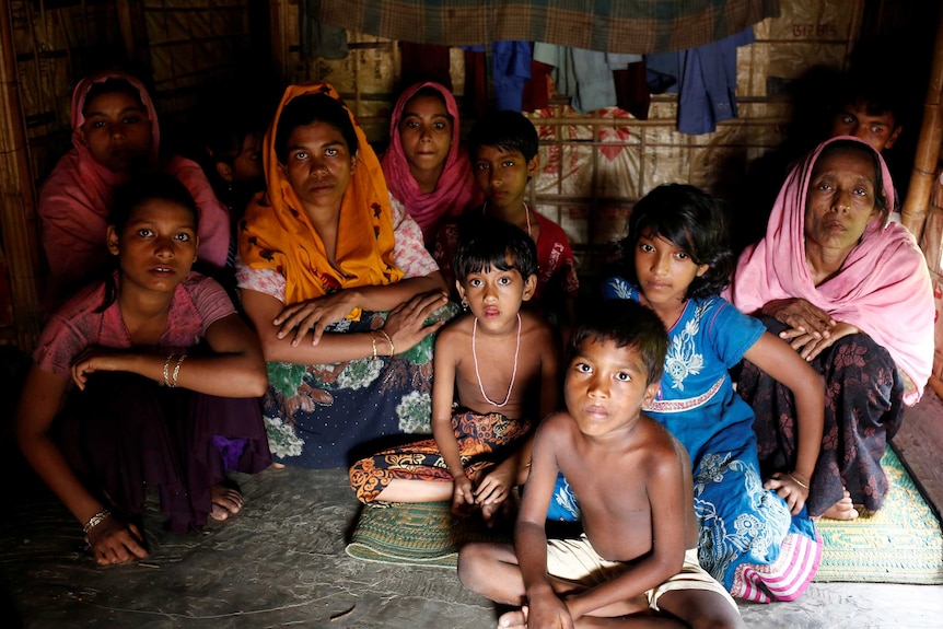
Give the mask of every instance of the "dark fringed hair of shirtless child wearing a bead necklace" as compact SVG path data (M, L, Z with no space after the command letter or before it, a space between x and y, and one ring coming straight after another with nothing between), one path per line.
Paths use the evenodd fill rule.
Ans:
M517 225L493 217L473 214L458 224L458 244L453 267L461 282L469 273L492 268L517 269L526 281L537 273L537 245Z

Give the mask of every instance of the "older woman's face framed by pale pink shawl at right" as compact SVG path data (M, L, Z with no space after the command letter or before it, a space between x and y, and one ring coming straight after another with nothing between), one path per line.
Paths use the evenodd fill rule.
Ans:
M865 153L839 150L812 170L805 206L806 245L851 249L880 211L875 207L874 161Z

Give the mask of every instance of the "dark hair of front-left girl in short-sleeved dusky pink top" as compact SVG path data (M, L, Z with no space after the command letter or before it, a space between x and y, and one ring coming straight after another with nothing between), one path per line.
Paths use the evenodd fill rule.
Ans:
M179 179L165 173L144 173L137 175L115 188L108 224L115 233L123 235L128 221L137 208L148 201L167 201L185 208L194 218L194 230L199 230L200 212L193 195ZM113 256L117 265L117 257ZM117 299L117 287L113 277L114 267L105 273L105 296L96 313L104 312Z

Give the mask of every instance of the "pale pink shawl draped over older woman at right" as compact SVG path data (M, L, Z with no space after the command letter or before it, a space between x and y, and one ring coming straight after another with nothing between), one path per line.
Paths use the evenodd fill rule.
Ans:
M815 286L805 261L806 191L812 170L833 138L789 174L766 236L741 254L729 299L747 314L772 300L801 298L834 318L850 323L887 349L917 386L904 401L917 404L933 365L933 293L923 253L903 225L875 219L834 278ZM873 150L873 149L872 149ZM894 208L890 172L878 154L888 210Z

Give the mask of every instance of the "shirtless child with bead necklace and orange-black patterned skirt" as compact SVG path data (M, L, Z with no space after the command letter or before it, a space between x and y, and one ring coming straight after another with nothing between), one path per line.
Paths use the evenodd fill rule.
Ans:
M525 232L491 218L464 225L455 271L472 312L435 339L434 439L357 462L350 485L365 503L451 499L490 523L526 478L532 426L557 409L559 359L549 324L521 308L537 280Z

